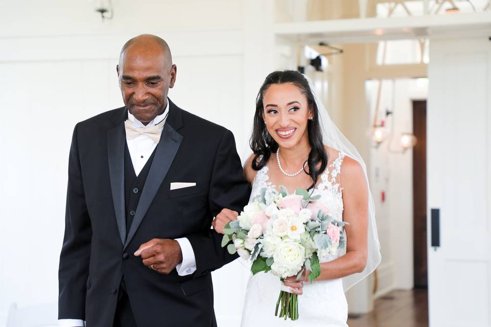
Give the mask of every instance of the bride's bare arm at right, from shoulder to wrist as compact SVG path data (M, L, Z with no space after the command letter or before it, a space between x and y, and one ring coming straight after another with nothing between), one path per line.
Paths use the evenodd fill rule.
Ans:
M368 186L360 164L345 157L341 166L343 188L343 220L346 231L346 254L321 264L321 275L316 280L334 279L362 272L367 263Z

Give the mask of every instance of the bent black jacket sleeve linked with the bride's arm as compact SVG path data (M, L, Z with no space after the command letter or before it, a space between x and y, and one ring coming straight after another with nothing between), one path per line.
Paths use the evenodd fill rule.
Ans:
M234 136L231 131L227 130L215 154L210 181L209 206L212 215L216 216L223 208L240 213L248 203L250 194L249 183L242 174L242 165L235 148ZM187 236L196 259L195 276L218 269L237 258L236 254L230 255L226 247L221 247L222 237L223 235L214 229Z

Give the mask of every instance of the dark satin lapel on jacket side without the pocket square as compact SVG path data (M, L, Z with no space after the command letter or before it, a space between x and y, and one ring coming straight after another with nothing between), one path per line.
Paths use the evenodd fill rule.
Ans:
M118 224L121 243L126 242L126 219L124 205L124 124L120 123L107 131L107 159L109 161L109 178L113 195L114 212Z

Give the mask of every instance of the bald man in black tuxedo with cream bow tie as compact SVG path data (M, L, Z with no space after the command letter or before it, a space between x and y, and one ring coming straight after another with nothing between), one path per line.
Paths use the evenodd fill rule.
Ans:
M73 133L59 324L216 326L210 272L235 256L211 222L250 195L234 137L167 97L163 39L126 42L116 71L125 106Z

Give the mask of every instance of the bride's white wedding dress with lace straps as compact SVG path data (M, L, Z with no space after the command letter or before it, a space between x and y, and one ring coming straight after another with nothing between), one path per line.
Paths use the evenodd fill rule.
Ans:
M345 154L340 152L338 157L321 175L321 180L313 192L313 195L321 195L320 201L329 208L330 215L337 220L343 219L343 198L339 174L344 157ZM259 170L254 178L251 199L257 196L264 187L276 187L269 181L267 166ZM328 255L319 258L319 261L321 263L332 261L341 254L340 252L336 255ZM303 287L303 294L298 297L299 319L296 321L284 320L275 316L280 287L279 278L272 273L260 272L249 278L242 310L241 327L348 326L346 324L348 306L341 279L306 282Z

